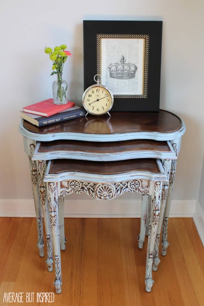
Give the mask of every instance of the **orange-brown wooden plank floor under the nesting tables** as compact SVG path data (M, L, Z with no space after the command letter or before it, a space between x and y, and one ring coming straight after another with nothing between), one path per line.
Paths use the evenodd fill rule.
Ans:
M192 218L170 219L170 246L153 272L151 293L139 226L135 218L66 218L62 293L54 303L37 303L37 292L55 291L54 271L47 271L46 255L38 256L36 221L0 218L0 305L204 305L204 248ZM3 303L5 292L24 292L24 303ZM26 303L26 292L34 292L34 303Z

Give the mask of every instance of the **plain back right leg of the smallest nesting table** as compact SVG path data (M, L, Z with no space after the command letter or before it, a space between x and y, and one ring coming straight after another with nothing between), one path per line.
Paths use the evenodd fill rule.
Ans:
M143 248L145 239L146 223L147 223L147 211L148 211L148 196L142 196L142 212L141 212L141 226L140 234L137 237L139 248Z

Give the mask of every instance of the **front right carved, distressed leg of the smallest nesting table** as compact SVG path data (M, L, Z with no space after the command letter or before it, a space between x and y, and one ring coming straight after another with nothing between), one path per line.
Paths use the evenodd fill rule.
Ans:
M150 220L150 229L148 236L148 247L147 247L147 264L146 264L146 291L150 292L154 281L152 279L152 263L153 263L153 252L154 244L157 233L157 226L159 222L160 206L161 206L161 191L162 191L162 182L155 182L154 192L152 195L151 201L151 220Z

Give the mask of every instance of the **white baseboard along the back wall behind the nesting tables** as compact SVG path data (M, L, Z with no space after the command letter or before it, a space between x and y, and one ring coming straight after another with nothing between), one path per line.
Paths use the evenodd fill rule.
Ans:
M71 202L71 203L70 203ZM172 200L170 217L193 217L196 200ZM0 217L35 217L32 199L0 199ZM65 218L140 218L141 200L72 200L65 198Z

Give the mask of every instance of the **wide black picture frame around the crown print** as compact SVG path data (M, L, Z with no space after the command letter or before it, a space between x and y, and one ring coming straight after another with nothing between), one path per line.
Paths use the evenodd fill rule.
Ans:
M97 37L101 35L148 35L146 95L120 98L114 95L111 111L159 111L162 21L83 21L84 90L98 73ZM102 82L102 84L104 84ZM105 84L104 84L105 85ZM111 88L110 88L111 89Z

